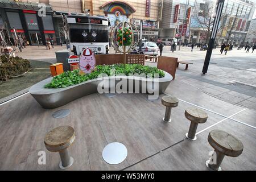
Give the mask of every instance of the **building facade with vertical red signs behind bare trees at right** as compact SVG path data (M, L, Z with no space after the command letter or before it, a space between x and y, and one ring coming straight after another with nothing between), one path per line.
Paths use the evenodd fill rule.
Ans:
M209 0L164 0L160 36L176 37L188 43L207 43L214 16L210 17L209 26L205 27L207 25L202 23L205 20L203 11L209 7L214 12L215 4ZM255 3L252 1L225 0L216 42L244 42L254 10Z

